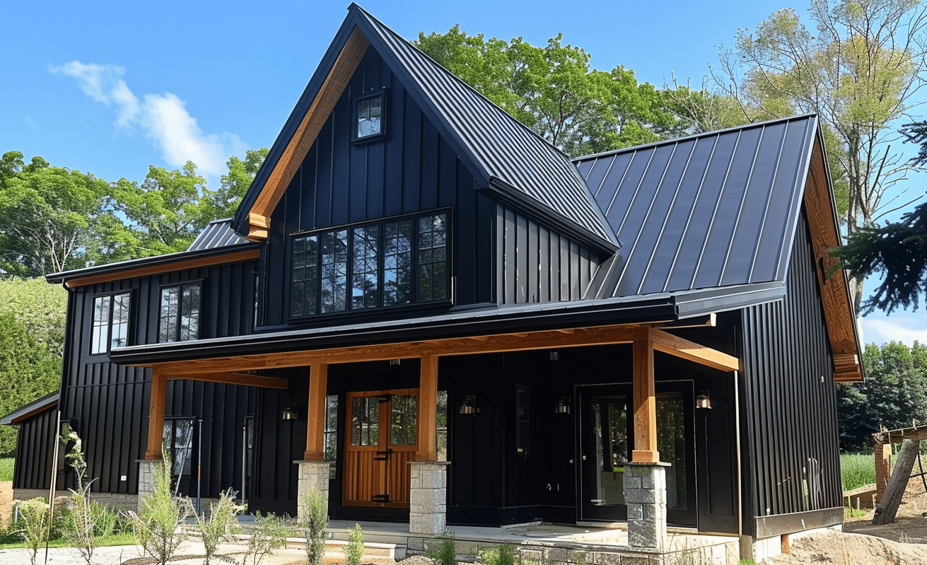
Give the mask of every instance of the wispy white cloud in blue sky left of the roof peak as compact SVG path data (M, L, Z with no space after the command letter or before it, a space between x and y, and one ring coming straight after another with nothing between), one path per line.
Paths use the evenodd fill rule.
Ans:
M213 181L210 184L225 173L229 157L244 155L248 149L235 134L203 132L184 100L173 93L146 94L139 99L121 78L125 70L117 65L75 60L50 71L72 77L84 94L115 109L115 125L128 131L141 130L171 167L195 162L197 172Z

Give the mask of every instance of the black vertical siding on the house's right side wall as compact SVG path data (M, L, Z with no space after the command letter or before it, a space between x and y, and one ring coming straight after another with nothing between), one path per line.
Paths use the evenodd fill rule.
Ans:
M743 309L744 515L757 519L744 530L759 537L793 527L767 517L842 507L836 385L811 251L802 213L785 300Z

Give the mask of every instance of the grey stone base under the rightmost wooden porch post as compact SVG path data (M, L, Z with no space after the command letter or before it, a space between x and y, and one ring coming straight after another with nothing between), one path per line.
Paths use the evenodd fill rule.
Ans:
M669 463L625 463L631 547L663 551L667 546L667 467Z

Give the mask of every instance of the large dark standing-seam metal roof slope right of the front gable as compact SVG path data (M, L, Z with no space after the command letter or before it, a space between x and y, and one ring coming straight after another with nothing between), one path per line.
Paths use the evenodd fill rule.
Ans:
M576 160L624 247L589 298L783 281L816 115Z

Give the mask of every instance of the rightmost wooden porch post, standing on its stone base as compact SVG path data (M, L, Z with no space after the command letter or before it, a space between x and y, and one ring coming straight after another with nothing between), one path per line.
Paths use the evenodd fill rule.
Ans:
M654 342L650 329L643 328L633 341L634 356L634 463L656 463L656 392L654 387Z

